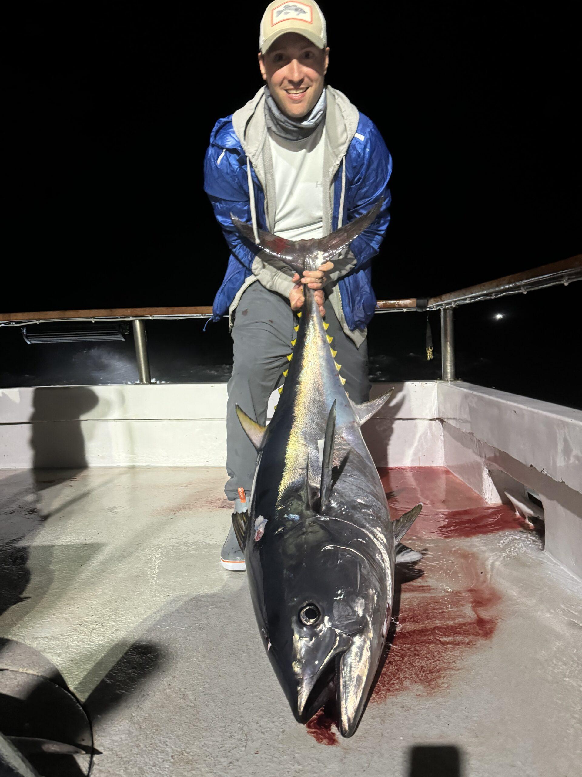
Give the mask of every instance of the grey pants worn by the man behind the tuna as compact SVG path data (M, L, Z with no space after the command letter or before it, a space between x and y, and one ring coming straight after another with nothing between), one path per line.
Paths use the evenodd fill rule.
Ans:
M331 303L325 302L327 334L334 338L338 351L336 361L341 364L345 390L354 402L369 398L368 347L364 341L357 348L345 335ZM227 403L227 472L224 487L227 499L237 498L237 489L250 493L257 451L238 420L236 406L248 416L265 425L268 398L282 384L282 372L289 366L293 327L299 319L289 306L289 300L274 291L268 291L258 280L241 297L234 313L232 328L234 364L228 382Z

